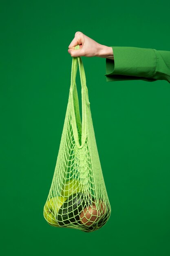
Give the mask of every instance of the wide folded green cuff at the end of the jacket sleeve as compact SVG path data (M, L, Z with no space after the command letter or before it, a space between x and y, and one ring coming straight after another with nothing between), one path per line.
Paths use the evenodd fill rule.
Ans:
M106 58L106 80L142 79L148 81L155 74L157 56L154 49L111 46L114 60ZM146 79L145 79L146 78ZM150 81L155 79L150 79Z

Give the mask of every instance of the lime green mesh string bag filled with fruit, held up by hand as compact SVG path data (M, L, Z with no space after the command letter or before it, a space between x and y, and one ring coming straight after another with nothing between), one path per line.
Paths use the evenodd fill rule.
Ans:
M75 47L79 49L79 45ZM82 123L76 87L79 65ZM49 225L85 232L103 227L111 208L99 160L81 57L73 57L60 148L43 214Z

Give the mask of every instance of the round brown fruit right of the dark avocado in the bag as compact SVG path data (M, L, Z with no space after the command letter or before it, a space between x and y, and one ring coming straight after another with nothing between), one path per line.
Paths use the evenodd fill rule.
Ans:
M97 211L96 206L93 204L92 207L88 206L80 213L80 223L86 226L90 226L97 222L100 217L100 212Z

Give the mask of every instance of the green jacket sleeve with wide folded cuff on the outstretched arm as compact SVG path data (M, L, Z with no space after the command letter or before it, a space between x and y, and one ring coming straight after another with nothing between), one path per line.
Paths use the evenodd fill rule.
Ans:
M166 80L170 83L170 51L110 46L114 61L106 58L106 81Z

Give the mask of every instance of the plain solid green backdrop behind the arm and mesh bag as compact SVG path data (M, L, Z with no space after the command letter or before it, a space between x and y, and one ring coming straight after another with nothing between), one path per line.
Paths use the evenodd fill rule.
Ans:
M82 61L110 219L84 233L43 217L75 32L107 46L170 50L169 9L165 0L1 1L1 255L170 255L170 84L106 82L105 58ZM81 97L79 76L77 87Z

